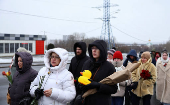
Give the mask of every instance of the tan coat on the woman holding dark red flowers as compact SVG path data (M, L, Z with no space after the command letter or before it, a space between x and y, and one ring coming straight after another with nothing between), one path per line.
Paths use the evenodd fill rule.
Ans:
M132 90L132 92L138 97L153 95L153 87L157 77L156 67L151 63L151 58L144 64L142 64L141 59L139 60L139 62L141 63L141 65L132 72L132 82L138 82L137 88L135 90ZM151 72L152 79L140 79L140 73L142 72L142 70L149 70L149 72Z

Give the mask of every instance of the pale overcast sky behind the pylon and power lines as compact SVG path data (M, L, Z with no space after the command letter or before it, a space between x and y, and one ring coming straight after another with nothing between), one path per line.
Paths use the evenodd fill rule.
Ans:
M170 40L170 0L110 2L119 5L110 8L116 17L111 19L116 42ZM103 0L0 0L0 33L43 35L45 31L48 39L62 39L62 35L78 32L99 37L103 22L95 18L102 18L103 11L92 7L102 4Z

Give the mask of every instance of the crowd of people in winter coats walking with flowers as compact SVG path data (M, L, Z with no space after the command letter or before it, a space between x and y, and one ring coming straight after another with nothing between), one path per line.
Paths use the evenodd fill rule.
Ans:
M68 70L68 51L51 48L44 55L45 67L37 72L31 68L30 52L19 48L10 66L12 84L8 88L8 104L37 105L32 104L36 100L38 105L170 105L170 61L166 50L162 53L142 51L138 57L132 49L123 58L115 47L107 50L103 40L92 42L88 49L85 42L76 42L73 49L75 56ZM115 85L99 82L137 62L140 66L129 80ZM84 70L92 73L88 85L78 82ZM97 92L82 98L90 89Z

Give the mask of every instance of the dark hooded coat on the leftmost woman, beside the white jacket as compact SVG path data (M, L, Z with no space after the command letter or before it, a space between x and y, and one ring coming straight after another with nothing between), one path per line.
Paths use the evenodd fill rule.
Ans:
M22 59L22 68L18 66L18 58ZM10 87L10 105L19 105L22 99L30 97L29 89L31 82L35 79L38 72L31 68L33 59L32 55L27 52L15 53L16 72L13 76L12 85Z

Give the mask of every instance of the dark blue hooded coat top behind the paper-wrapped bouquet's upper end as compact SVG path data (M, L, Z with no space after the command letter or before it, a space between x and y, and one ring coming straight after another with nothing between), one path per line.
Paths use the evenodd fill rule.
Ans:
M130 56L134 56L135 59L131 59ZM132 49L127 55L126 60L123 62L123 66L126 67L128 65L128 61L131 63L136 63L138 61L136 50Z

